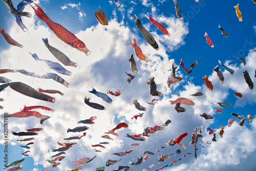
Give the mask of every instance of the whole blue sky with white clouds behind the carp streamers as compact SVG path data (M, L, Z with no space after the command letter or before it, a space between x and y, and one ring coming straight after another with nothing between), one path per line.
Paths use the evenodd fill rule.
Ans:
M14 7L20 1L12 1ZM22 17L24 25L28 28L24 32L15 22L15 17L9 12L8 8L2 3L0 6L0 23L6 33L24 47L19 48L9 45L3 36L0 36L0 69L25 69L29 72L51 72L55 71L47 68L44 63L35 61L31 54L36 53L40 59L47 59L59 62L46 48L42 38L48 38L49 44L64 54L78 66L62 67L72 72L72 76L62 75L63 79L68 81L71 86L69 88L59 84L51 79L40 79L26 76L20 73L5 73L1 76L11 79L12 82L20 81L28 84L34 89L59 90L64 93L48 94L56 99L55 103L45 102L33 99L11 88L6 88L0 93L1 106L4 106L2 114L13 114L23 109L24 105L44 105L52 108L55 112L35 109L42 115L51 116L46 120L46 124L41 125L39 119L35 117L28 118L8 118L8 162L25 158L22 163L23 170L37 171L44 170L51 164L47 159L56 152L52 152L51 148L59 148L57 142L78 142L66 151L66 158L54 169L72 170L76 165L71 160L77 158L97 157L88 164L84 164L81 170L95 170L97 167L105 166L106 160L121 161L106 167L105 170L115 170L118 166L128 165L131 170L143 170L151 164L159 165L149 169L156 170L166 164L170 164L174 160L178 160L187 153L192 153L182 160L174 163L171 167L163 168L163 170L254 170L256 167L255 151L256 146L256 121L255 121L255 103L256 93L250 90L246 83L243 71L248 71L252 82L256 82L255 66L256 66L256 7L251 1L210 1L210 0L194 0L179 1L178 5L181 10L183 20L178 19L173 1L159 0L137 0L137 1L119 1L121 6L118 8L114 1L35 1L42 10L49 16L53 22L56 22L71 33L75 34L84 42L91 54L86 54L68 46L61 41L49 29L45 22L42 22L34 13L34 10L27 5L24 9L32 14L31 18ZM242 22L236 15L233 6L239 4L242 12ZM109 19L109 25L103 26L98 23L95 12L100 9L104 11ZM145 16L149 13L157 22L162 23L170 37L163 34L156 26L154 26ZM158 43L160 49L156 51L152 48L138 30L134 19L131 16L137 15L142 26L150 32ZM221 34L218 26L228 32L229 37L226 38ZM208 33L214 48L211 48L204 37L205 32ZM136 57L134 48L129 45L133 38L136 38L137 45L140 46L143 54L148 57L149 61L140 60ZM132 73L130 70L131 55L137 63L139 74ZM246 60L244 66L238 57ZM192 69L190 74L185 73L180 66L180 60L187 69L194 61L198 61L199 65ZM231 75L220 66L218 60L221 60L227 67L234 70ZM182 81L172 84L171 88L167 86L167 79L172 74L172 64L179 66L176 74L182 77ZM221 84L216 72L213 69L219 66L224 76L224 83ZM131 73L135 78L130 84L125 83L126 74ZM202 77L207 76L211 81L214 90L210 91L204 84ZM150 86L146 81L155 77L157 90L162 92L162 96L152 96L150 94ZM106 93L108 90L113 92L121 90L122 94L118 97L109 95L114 101L113 104L106 103L101 98L91 94L89 91L95 88L98 92ZM202 92L204 98L189 96L197 92ZM242 93L243 98L234 96L234 92ZM91 102L103 105L106 110L99 111L91 108L84 103L84 97L91 98ZM195 105L181 104L186 112L177 113L174 109L175 105L171 105L169 100L184 97L195 102ZM138 99L139 103L145 108L146 112L138 111L132 99ZM155 105L147 104L145 101L159 99ZM231 103L231 106L221 107L217 102ZM222 113L215 110L221 109ZM143 112L143 116L137 119L135 123L131 118L134 115ZM200 114L209 114L214 119L205 120ZM252 115L252 123L245 120L244 127L240 126L239 119L231 115L231 113L239 113L247 117ZM77 123L79 120L89 119L91 116L97 116L94 124ZM228 127L228 120L234 119L234 122ZM135 141L124 137L124 134L141 134L146 127L155 125L161 126L170 119L172 123L165 126L164 130L157 131L157 134L151 134L151 137L145 137L146 141ZM4 130L4 119L1 118L1 130ZM104 132L112 130L118 123L125 122L129 125L127 128L116 130L119 136L110 135L114 140L101 138ZM80 136L80 133L67 133L67 130L77 126L88 126L90 130L85 131L87 135L80 140L64 141L63 138L72 136ZM191 133L194 128L203 126L203 138L198 139L197 159L195 159L195 149L189 145L191 141ZM220 137L219 131L221 125L225 127L223 138ZM25 129L33 127L42 127L43 131L38 132L39 135L33 136L34 144L30 145L29 156L22 156L27 149L19 145L28 142L16 141L16 139L24 139L28 137L17 137L11 135L11 131L24 132ZM216 142L212 142L212 135L206 131L207 127L216 129ZM181 142L184 143L186 149L176 144L169 148L160 148L159 145L165 146L169 140L178 137L180 134L188 133ZM2 131L1 139L4 139L4 131ZM31 136L29 136L31 137ZM91 144L108 141L105 148L96 147L101 152L95 152ZM207 144L206 142L211 144ZM141 143L139 146L131 146L132 143ZM200 146L201 144L202 146ZM1 143L1 159L5 153L4 145ZM113 152L134 151L126 156L111 155ZM160 152L157 152L158 149ZM169 155L175 153L176 149L180 149L181 153L175 156ZM149 155L150 158L142 162L139 166L129 165L129 162L136 162L138 157L144 157L140 153L151 151L156 155ZM158 157L161 155L169 155L170 158L164 162L159 162ZM1 166L3 161L1 161ZM3 167L4 168L4 167Z

